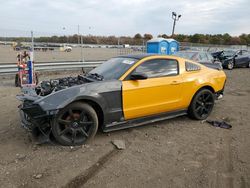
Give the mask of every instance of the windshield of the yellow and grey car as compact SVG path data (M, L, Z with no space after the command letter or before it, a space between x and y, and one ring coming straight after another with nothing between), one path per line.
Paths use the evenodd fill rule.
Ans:
M137 59L126 57L112 58L90 71L88 75L99 76L102 80L118 80L136 61Z

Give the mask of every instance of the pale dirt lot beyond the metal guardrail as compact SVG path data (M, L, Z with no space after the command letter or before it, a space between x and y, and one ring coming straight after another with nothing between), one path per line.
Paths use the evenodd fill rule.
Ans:
M18 51L14 51L11 46L0 45L0 64L16 63ZM83 48L82 54L85 61L107 60L111 57L131 53L141 53L132 49L114 49L114 48ZM82 60L81 48L73 48L71 52L61 52L59 49L54 51L35 51L34 60L36 62L53 61L80 61Z

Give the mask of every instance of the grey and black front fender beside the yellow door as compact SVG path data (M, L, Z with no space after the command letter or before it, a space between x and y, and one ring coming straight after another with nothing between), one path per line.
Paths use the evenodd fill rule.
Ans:
M33 104L47 114L56 114L58 110L74 101L89 100L100 106L105 123L109 123L123 118L121 90L120 80L91 82L51 93L34 101Z

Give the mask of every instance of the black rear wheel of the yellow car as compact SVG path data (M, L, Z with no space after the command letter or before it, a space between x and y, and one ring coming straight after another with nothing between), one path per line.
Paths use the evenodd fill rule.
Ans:
M213 110L214 99L214 94L210 90L198 91L189 106L189 116L198 120L206 119Z

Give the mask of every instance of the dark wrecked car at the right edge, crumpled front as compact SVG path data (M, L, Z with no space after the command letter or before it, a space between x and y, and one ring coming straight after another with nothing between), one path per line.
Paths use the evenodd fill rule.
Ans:
M229 70L235 67L250 68L250 53L247 50L223 50L212 53L212 56Z

